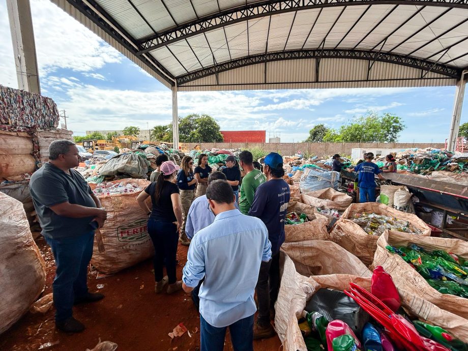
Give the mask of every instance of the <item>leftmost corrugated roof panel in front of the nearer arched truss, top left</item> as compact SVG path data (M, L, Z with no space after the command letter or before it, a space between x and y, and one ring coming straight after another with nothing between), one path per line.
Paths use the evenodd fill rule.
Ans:
M142 38L154 34L127 0L98 0L97 3L132 37Z

